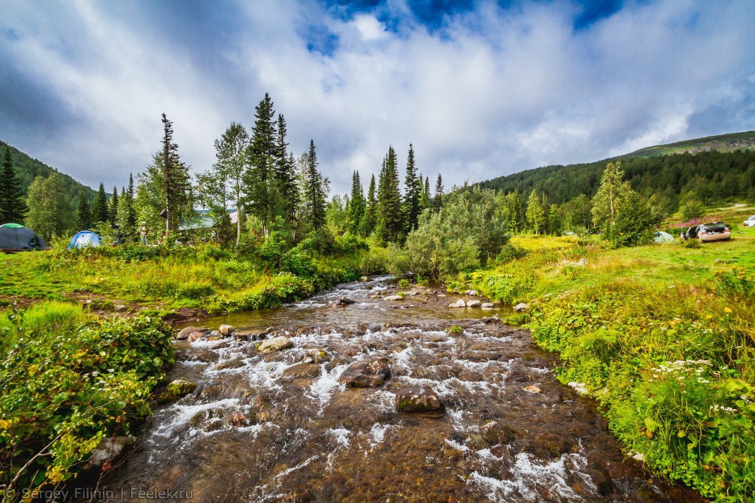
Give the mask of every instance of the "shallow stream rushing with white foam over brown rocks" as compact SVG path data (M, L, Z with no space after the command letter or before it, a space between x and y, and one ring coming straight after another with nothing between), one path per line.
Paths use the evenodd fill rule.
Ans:
M272 328L270 336L288 335L294 346L262 355L251 340L178 342L170 378L196 382L196 390L154 407L134 450L97 494L116 501L701 501L625 459L595 403L556 381L556 357L525 330L499 322L494 315L503 311L449 309L470 297L430 289L387 301L377 295L394 293L387 280L202 320L210 329ZM341 297L356 303L337 306ZM350 364L375 358L390 366L384 384L339 383ZM397 412L396 392L406 387L431 388L445 411Z

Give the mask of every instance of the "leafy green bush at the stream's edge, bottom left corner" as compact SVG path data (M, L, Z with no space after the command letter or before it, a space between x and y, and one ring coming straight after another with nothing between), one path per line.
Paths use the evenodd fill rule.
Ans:
M171 335L145 316L96 319L47 303L7 312L0 326L9 337L0 356L0 484L11 489L63 482L104 437L128 434L173 362Z

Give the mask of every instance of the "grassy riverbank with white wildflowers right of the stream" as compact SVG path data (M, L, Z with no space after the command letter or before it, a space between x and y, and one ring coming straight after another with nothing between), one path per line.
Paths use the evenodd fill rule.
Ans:
M605 249L518 236L505 264L462 276L525 301L524 322L586 384L627 452L720 501L755 495L755 230L730 242Z

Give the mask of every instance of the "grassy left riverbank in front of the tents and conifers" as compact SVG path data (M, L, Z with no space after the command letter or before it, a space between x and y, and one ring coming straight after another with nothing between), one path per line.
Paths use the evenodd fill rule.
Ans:
M167 313L260 309L305 298L371 269L365 248L332 245L322 255L305 240L286 252L232 253L214 245L119 247L0 255L0 305L17 299L122 304Z

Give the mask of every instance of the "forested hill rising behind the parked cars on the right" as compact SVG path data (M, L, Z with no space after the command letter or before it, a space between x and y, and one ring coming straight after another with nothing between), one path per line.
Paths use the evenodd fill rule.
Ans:
M755 198L755 131L648 147L597 162L544 166L479 185L525 195L534 189L562 204L580 194L592 197L606 163L619 160L634 190L647 197L655 194L669 209L686 193L706 203Z

